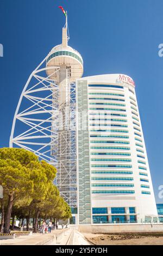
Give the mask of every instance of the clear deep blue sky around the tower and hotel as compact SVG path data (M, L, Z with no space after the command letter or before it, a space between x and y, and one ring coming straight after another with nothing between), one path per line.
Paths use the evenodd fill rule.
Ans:
M0 0L1 147L8 147L12 118L30 72L61 43L68 10L70 46L84 59L84 76L122 73L136 82L156 202L163 185L162 0Z

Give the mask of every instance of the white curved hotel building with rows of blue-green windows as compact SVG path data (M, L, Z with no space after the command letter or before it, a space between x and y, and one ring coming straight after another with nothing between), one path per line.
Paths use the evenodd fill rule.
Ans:
M97 83L94 77L90 83L89 78L78 83L81 105L80 92L87 92L89 162L84 163L86 182L81 181L81 190L91 190L91 205L85 200L85 209L92 214L91 223L141 223L156 207L135 89L125 82L102 83L100 77ZM83 201L81 208L83 212Z

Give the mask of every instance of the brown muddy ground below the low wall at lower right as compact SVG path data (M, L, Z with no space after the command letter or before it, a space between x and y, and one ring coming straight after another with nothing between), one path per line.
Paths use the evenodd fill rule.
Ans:
M163 234L161 235L84 234L93 245L163 245Z

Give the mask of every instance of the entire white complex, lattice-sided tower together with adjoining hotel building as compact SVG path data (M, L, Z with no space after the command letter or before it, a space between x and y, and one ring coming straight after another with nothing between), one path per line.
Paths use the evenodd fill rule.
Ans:
M74 224L144 222L157 216L135 83L127 75L83 75L82 56L52 48L30 75L10 147L57 166L55 180ZM18 127L18 129L17 129Z

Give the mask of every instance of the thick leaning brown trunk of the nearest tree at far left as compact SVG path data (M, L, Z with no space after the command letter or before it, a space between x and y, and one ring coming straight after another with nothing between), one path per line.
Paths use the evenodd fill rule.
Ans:
M14 204L14 193L9 195L8 206L5 212L4 233L10 233L10 218L11 218L13 204Z

